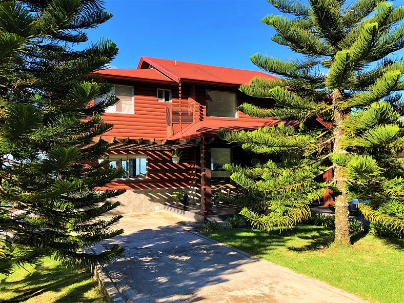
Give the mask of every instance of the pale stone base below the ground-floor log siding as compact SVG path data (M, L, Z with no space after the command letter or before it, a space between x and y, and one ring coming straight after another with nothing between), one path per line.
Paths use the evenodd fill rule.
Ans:
M185 187L131 189L122 195L110 199L111 202L119 201L120 206L109 211L107 214L130 214L164 210L164 205L174 201L172 194L180 189L184 189L189 193L192 203L198 198L196 189L191 189L190 191L189 188Z

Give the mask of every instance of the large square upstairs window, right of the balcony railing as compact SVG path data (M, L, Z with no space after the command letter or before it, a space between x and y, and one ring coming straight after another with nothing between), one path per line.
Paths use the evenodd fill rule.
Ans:
M206 115L209 117L236 117L236 94L206 91Z

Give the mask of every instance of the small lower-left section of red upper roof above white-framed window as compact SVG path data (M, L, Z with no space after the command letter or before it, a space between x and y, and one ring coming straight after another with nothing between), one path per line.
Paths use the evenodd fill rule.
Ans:
M159 71L155 69L103 69L94 72L103 77L119 77L119 78L133 78L136 80L158 80L158 81L168 81L174 82L169 77L166 77Z

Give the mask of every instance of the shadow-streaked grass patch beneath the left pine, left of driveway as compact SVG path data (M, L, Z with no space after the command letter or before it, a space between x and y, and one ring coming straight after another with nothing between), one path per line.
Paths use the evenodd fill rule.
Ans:
M0 274L0 302L105 303L88 271L50 259L41 266L25 268L17 268L9 276Z

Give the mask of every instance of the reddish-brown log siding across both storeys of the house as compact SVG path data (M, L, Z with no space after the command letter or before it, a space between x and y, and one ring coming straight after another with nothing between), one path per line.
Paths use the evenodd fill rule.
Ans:
M171 89L172 102L181 104L200 104L196 106L200 111L195 111L195 120L215 119L220 120L251 121L263 120L249 117L238 112L238 118L206 117L206 90L230 91L237 94L238 105L250 102L262 107L268 105L267 99L251 98L239 92L237 89L222 87L207 87L195 84L181 85L181 100L179 99L178 85L150 85L147 83L120 81L113 84L130 85L134 87L134 114L105 113L106 122L114 124L114 128L106 133L106 136L117 138L167 138L166 103L157 101L157 88ZM103 187L106 189L152 189L170 187L196 187L201 186L200 171L200 147L183 149L183 156L178 164L173 164L169 151L110 151L109 154L146 154L147 155L147 178L146 179L118 179ZM251 156L240 147L233 150L235 163L248 165Z

